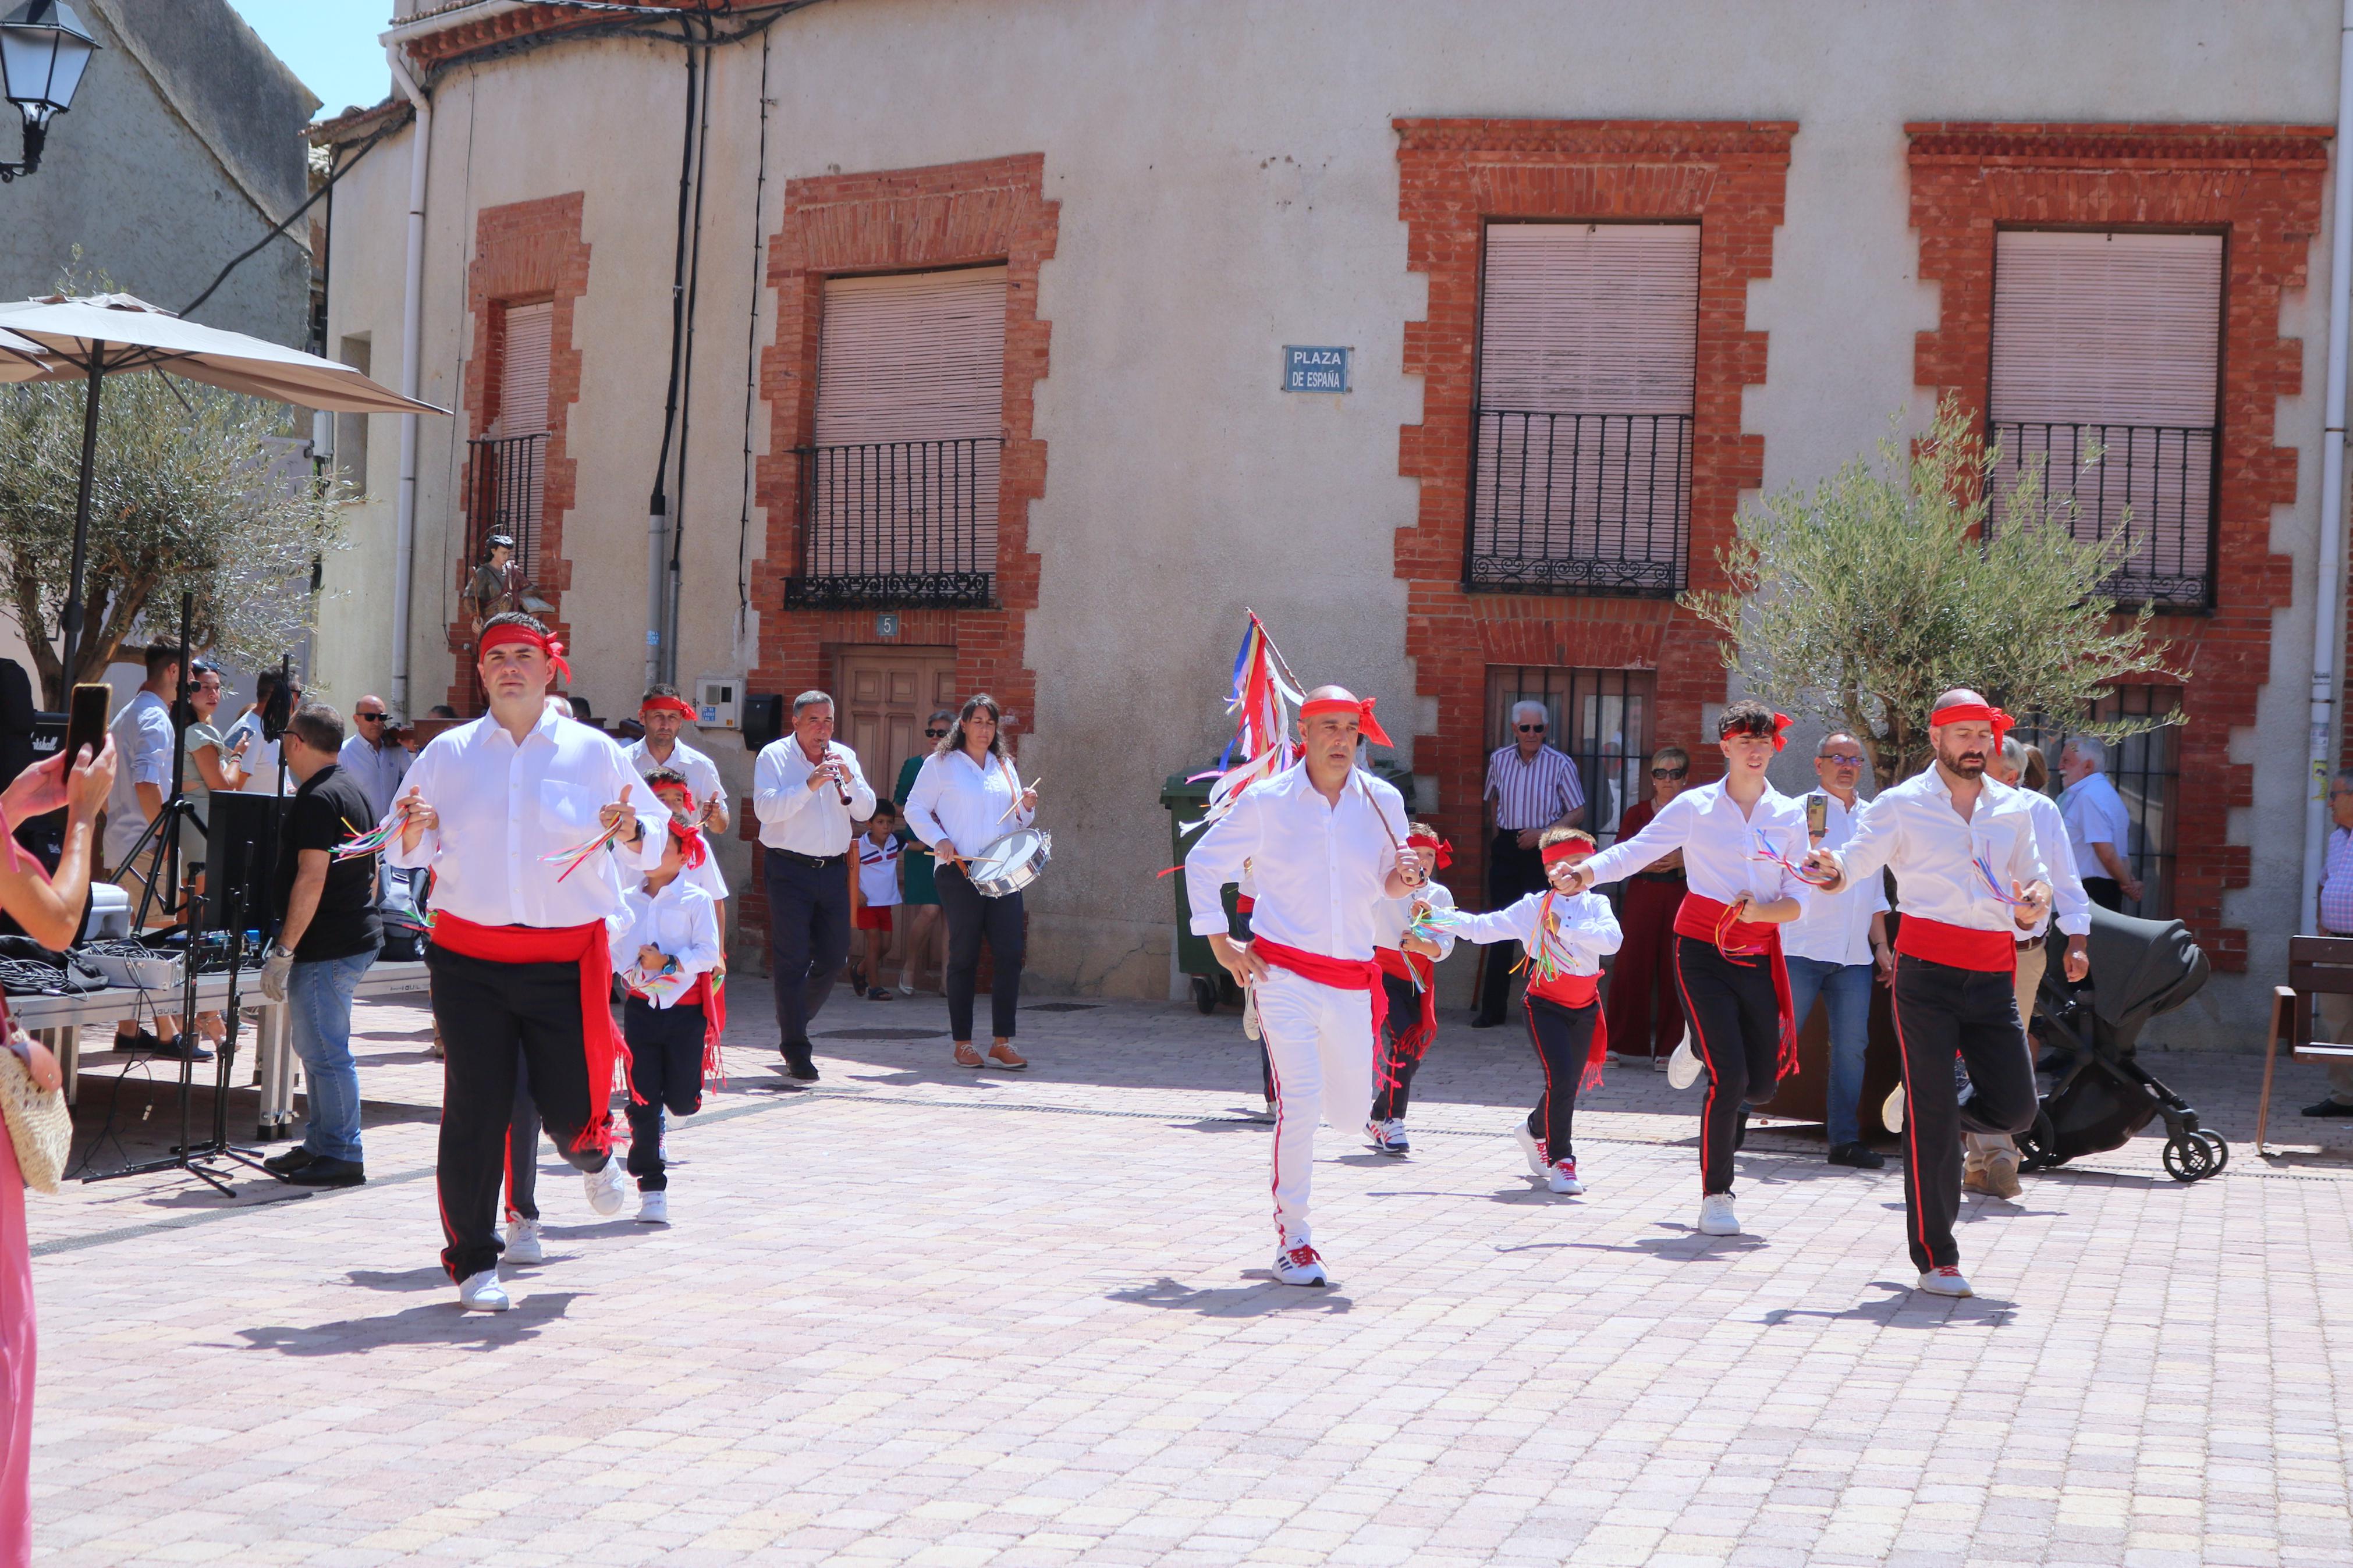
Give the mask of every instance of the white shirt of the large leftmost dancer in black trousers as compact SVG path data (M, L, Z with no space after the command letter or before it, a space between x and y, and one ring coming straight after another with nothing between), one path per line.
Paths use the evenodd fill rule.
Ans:
M593 839L598 813L631 790L645 839L598 851L569 877L544 856ZM433 736L402 780L440 816L440 827L384 858L402 870L433 867L433 907L478 926L586 926L602 919L614 938L628 926L624 877L661 865L668 811L647 799L621 748L574 719L541 712L522 745L489 715ZM624 959L626 961L626 959Z

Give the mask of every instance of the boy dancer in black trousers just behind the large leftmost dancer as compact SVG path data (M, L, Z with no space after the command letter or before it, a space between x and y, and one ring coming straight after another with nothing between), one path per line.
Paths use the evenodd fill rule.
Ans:
M635 959L624 971L628 1001L628 1173L638 1178L638 1222L671 1222L671 1178L661 1159L661 1114L692 1117L704 1107L704 1074L718 1063L718 1009L711 971L720 961L720 929L711 893L685 870L708 858L704 830L671 818L661 865L628 893L628 940Z

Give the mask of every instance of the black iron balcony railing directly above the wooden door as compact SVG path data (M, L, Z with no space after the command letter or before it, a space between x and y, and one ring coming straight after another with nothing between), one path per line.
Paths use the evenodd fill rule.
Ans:
M802 447L800 571L791 609L995 602L1005 440Z

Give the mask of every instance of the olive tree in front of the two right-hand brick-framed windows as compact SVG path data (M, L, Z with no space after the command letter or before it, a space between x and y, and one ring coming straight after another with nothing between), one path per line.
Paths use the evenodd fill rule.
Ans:
M2101 592L2132 552L2129 527L2078 538L2073 501L2024 465L1988 536L1995 461L1946 397L1920 440L1889 435L1875 463L1741 508L1718 552L1732 588L1682 607L1753 691L1854 731L1880 780L1927 766L1929 703L1953 686L2111 741L2174 722L2092 717L2120 679L2186 679L2151 639L2148 607L2118 621Z

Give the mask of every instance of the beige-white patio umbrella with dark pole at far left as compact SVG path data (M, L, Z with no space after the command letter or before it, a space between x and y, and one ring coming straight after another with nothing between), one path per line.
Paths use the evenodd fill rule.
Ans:
M99 454L99 381L122 371L165 371L231 393L249 393L339 414L447 414L376 386L348 364L306 355L242 331L184 322L129 294L87 294L0 303L0 381L87 381L82 400L82 482L73 503L73 578L66 585L64 665L82 639L82 562L89 543L89 480Z

